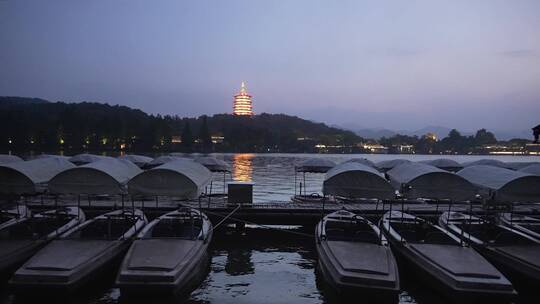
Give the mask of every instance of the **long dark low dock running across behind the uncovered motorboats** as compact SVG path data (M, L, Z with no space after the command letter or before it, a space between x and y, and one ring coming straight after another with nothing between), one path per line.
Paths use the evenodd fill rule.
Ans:
M203 197L200 200L174 200L171 198L154 198L145 200L132 200L122 198L87 198L79 197L39 197L20 201L30 209L41 211L55 206L79 205L89 216L103 213L112 209L139 208L149 218L175 210L181 206L201 209L206 212L213 222L218 222L229 215L227 223L247 222L261 225L315 225L323 214L347 209L362 214L371 219L378 219L383 213L390 210L404 210L425 218L436 218L442 212L461 211L482 215L490 212L482 204L468 203L426 203L421 201L387 201L387 202L271 202L254 203L250 205L228 204L226 197ZM12 203L13 204L13 203ZM234 211L234 212L233 212ZM513 211L520 214L540 216L539 204L520 204L513 207ZM233 212L231 214L231 212Z

